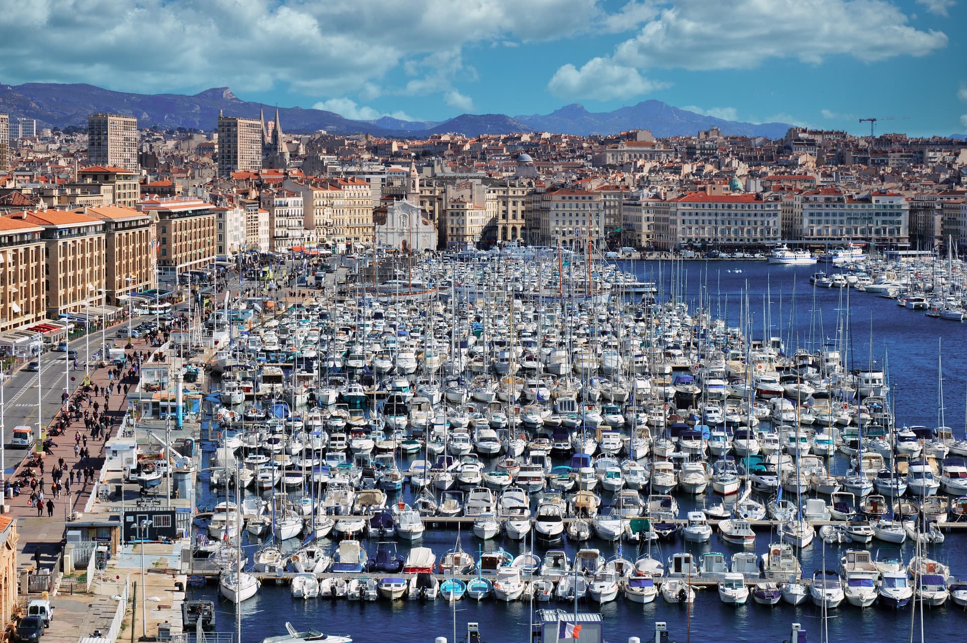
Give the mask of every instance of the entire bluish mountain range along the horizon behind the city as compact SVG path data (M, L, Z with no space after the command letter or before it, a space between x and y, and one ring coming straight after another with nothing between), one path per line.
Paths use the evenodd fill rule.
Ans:
M141 127L212 130L220 112L226 116L266 118L274 107L243 101L227 87L215 87L186 96L181 94L131 94L87 84L31 82L0 84L0 112L12 118L33 118L41 127L86 127L88 114L108 112L134 116ZM660 101L645 101L609 112L589 112L570 104L550 114L507 116L504 114L461 114L450 120L403 121L382 117L354 121L322 109L279 107L283 132L370 133L377 136L422 137L433 133L458 132L467 136L484 133L555 132L578 135L611 134L634 129L651 130L656 136L694 134L718 127L723 134L778 138L791 126L785 123L741 123L704 116Z

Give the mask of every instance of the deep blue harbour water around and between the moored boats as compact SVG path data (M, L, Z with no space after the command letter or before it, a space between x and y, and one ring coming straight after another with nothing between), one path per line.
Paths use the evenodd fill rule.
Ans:
M633 270L641 278L659 281L659 266L654 262L628 263L625 268ZM714 315L724 315L727 310L730 326L739 325L740 302L747 289L753 336L763 335L763 317L768 317L772 321L768 334L782 336L787 349L791 350L797 345L806 346L810 341L821 342L824 337L835 337L837 319L842 314L839 309L840 293L836 289L818 290L815 293L814 308L813 289L808 283L808 276L815 270L817 269L809 266L770 266L764 262L686 262L681 266L676 279L681 278L683 284L687 282L687 288L683 290L684 298L692 308L698 306L701 294L702 301L709 303L707 306L711 307ZM669 264L660 267L660 277L664 284L663 296L668 297L671 280ZM767 292L772 302L767 307L768 315L763 312L763 297ZM856 291L849 295L852 365L865 366L870 359L881 365L889 350L889 376L896 392L897 424L937 424L938 338L943 339L946 424L953 427L957 437L962 437L964 392L967 387L967 365L964 358L967 349L964 334L967 326L927 318L921 311L897 307L893 300ZM815 327L817 317L821 317L823 333L810 334L810 325ZM844 467L844 460L837 458L835 470L841 472ZM214 503L215 499L207 483L199 485L199 493L200 505ZM405 490L403 498L410 497L410 492ZM690 500L683 502L683 508L688 508L689 504ZM454 532L427 530L419 544L431 547L438 556L442 556L454 546L455 539ZM498 546L503 546L514 555L525 550L525 545L509 540L481 542L470 534L463 534L461 540L463 548L471 552L478 551L479 547L490 550ZM768 534L760 534L756 552L765 551L769 540ZM950 534L944 544L931 546L928 553L932 558L949 564L954 575L959 572L967 576L965 544L967 536ZM255 546L247 545L249 557ZM369 541L366 546L372 553L376 543ZM606 557L618 553L618 545L611 543L592 541L585 546L601 548ZM813 570L835 569L847 546L824 547L822 541L816 539L802 553L804 574L811 576ZM875 551L877 541L867 546ZM400 543L399 547L405 554L406 545ZM571 554L574 551L571 545L566 545L566 548ZM740 548L719 541L718 536L713 536L711 542L703 544L690 544L681 540L663 543L662 549L659 552L653 551L653 554L667 559L673 553L684 550L696 554L721 551L728 556ZM539 555L543 553L540 546L536 551ZM906 560L913 556L912 551L912 545L904 545L903 555ZM634 556L633 548L630 549L627 544L624 553L631 558ZM216 587L192 590L191 593L195 597L218 600L218 629L234 630L235 606L219 600ZM536 606L572 609L572 605L556 602L539 603ZM254 643L266 636L284 633L283 624L288 621L298 629L311 627L325 632L349 634L358 643L430 642L437 636L446 636L453 643L454 623L455 640L462 640L466 624L477 622L480 624L482 640L488 643L527 641L530 636L530 609L530 603L520 601L497 603L484 600L477 603L461 600L451 604L444 600L431 603L408 600L393 603L385 600L293 600L286 586L272 586L267 583L255 598L241 605L242 638L245 643ZM582 603L579 606L581 611L598 609L594 603ZM922 628L926 634L925 640L959 640L963 631L961 628L967 623L964 612L952 603L940 608L924 609L923 624L918 614L914 627L910 609L894 611L874 606L860 610L844 601L839 608L831 610L830 618L824 624L819 609L811 603L793 607L780 602L775 607L765 607L749 601L747 605L733 607L719 601L715 588L699 591L690 609L665 603L660 598L653 603L640 605L619 596L615 601L601 606L600 610L604 638L612 643L627 641L630 636L638 636L643 641L651 639L657 620L668 624L671 640L695 642L778 642L789 638L792 623L803 624L812 641L820 639L821 628L828 628L831 641L893 643L911 640L911 631L914 632L914 639L920 640Z

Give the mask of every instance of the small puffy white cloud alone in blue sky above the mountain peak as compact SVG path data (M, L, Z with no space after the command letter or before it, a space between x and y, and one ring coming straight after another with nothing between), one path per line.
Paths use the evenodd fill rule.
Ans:
M592 58L580 70L573 65L558 69L547 89L562 99L610 101L648 94L667 87L642 76L633 67L616 65L607 58Z

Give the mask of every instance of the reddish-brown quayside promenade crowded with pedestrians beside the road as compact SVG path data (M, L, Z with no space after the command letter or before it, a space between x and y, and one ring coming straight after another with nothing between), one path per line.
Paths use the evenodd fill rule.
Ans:
M127 324L127 322L123 322ZM84 340L83 337L73 340L72 344L77 345L79 342ZM127 339L122 339L122 341L127 341ZM132 348L128 349L126 352L131 355L133 352L151 352L154 350L152 346L149 345L147 339L133 339ZM125 371L131 366L129 362L125 366ZM110 379L108 376L108 371L113 366L107 365L103 368L92 368L90 371L90 385L93 388L97 387L99 392L101 387L106 388L109 385L114 385L115 381ZM81 388L83 385L84 377L78 372L78 376L75 377L76 384L78 385L76 389L72 392L73 394ZM136 386L136 378L128 380L128 384L131 390ZM104 404L103 395L95 396L95 399L99 402L99 407ZM86 408L86 405L82 405L82 408ZM115 427L120 424L121 418L124 417L128 409L128 398L124 395L124 390L115 391L109 396L109 401L106 406L106 417L110 420L111 430L108 435L114 435ZM93 410L93 407L92 407ZM63 411L58 411L57 414L50 419L47 425L52 426L56 421L61 418ZM74 434L79 432L81 436L86 436L86 449L90 452L90 457L86 460L79 455L74 454ZM60 436L53 438L54 446L51 447L52 453L44 454L44 507L42 508L42 514L38 515L38 510L34 507L29 506L31 489L29 486L23 486L20 488L20 495L13 498L6 499L8 506L8 514L19 519L19 536L20 536L20 551L17 555L17 566L34 565L34 560L36 552L40 550L40 566L42 569L50 568L54 565L57 560L61 549L62 542L65 537L64 526L67 524L67 518L69 515L73 514L74 511L82 512L86 506L91 493L94 491L95 482L100 476L100 471L104 462L104 437L99 436L98 439L93 439L89 430L84 428L83 420L73 421L70 427ZM78 450L84 448L85 442L83 437L77 443ZM8 452L10 453L10 452ZM25 466L32 458L34 454L29 453L22 462L15 466L14 475L12 475L9 480L11 482L21 477L21 474L27 469ZM71 484L71 492L68 493L66 490L66 476L61 479L61 485L64 490L61 491L59 497L53 497L51 491L51 470L57 466L58 460L64 458L64 463L67 466L67 471L73 475L75 471L82 471L84 468L93 468L95 475L93 480L88 482L74 482ZM39 474L40 471L37 467L31 467L35 474ZM40 479L38 479L40 480ZM83 475L81 475L81 481L83 481ZM53 511L48 515L47 500L52 501ZM54 570L55 572L57 570Z

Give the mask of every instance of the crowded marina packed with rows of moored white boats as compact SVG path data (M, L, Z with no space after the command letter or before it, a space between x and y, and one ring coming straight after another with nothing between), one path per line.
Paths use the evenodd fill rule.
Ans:
M951 556L957 558L952 553L955 542L967 525L958 522L963 506L959 496L907 490L900 501L898 486L883 481L901 479L909 487L911 466L917 462L935 463L923 470L943 478L959 465L951 460L959 441L952 431L947 442L935 430L922 431L915 438L920 452L911 452L913 445L899 437L910 429L894 418L910 416L922 426L946 423L924 417L936 415L936 402L902 395L903 384L891 387L903 381L908 368L900 366L894 374L888 367L889 339L869 321L862 331L858 328L859 315L868 319L867 309L889 315L884 319L915 311L899 310L897 300L863 292L862 275L855 268L836 273L847 285L827 290L809 279L814 277L810 266L733 262L728 268L710 269L710 264L692 262L629 262L622 266L628 272L618 275L621 269L614 266L589 270L579 257L569 258L571 266L563 259L560 264L568 270L571 298L592 297L582 304L568 303L567 297L543 304L542 293L553 292L555 279L557 289L565 289L565 277L553 268L545 275L546 284L539 278L528 292L521 287L523 278L506 277L513 274L506 257L470 265L444 262L435 268L433 262L414 263L411 268L419 271L419 278L437 284L433 315L418 308L407 313L410 304L394 308L392 301L366 303L366 295L354 295L351 287L334 287L328 295L310 291L314 297L288 308L294 331L290 336L297 337L288 342L290 354L302 355L281 359L278 353L267 354L262 362L264 348L249 348L255 343L252 336L259 336L263 347L278 345L278 336L272 335L286 325L279 313L272 332L249 329L236 344L246 342L245 350L216 356L222 374L220 380L211 380L214 395L206 397L211 400L210 432L216 435L211 443L203 442L210 462L196 491L199 506L214 506L215 511L195 515L195 534L209 549L240 547L249 561L247 575L258 589L240 603L243 623L250 610L260 611L269 601L292 610L294 627L308 627L317 621L311 608L316 603L307 598L318 596L329 605L318 607L329 615L325 623L351 623L361 618L359 607L352 605L375 600L392 612L394 604L416 609L421 620L429 617L447 632L454 614L446 605L455 602L459 611L472 612L459 617L461 623L492 622L490 610L511 610L516 622L524 621L524 632L531 607L557 603L569 612L576 605L578 614L622 614L617 621L602 621L612 637L650 630L660 618L673 630L690 628L696 640L706 640L707 624L701 617L689 619L687 610L678 611L681 607L668 613L674 607L669 603L680 598L674 588L682 583L700 594L690 604L703 608L709 600L722 605L742 600L794 610L777 628L782 630L801 618L801 610L815 606L816 599L809 599L817 592L813 568L838 569L840 559L852 557L852 551L868 551L875 567L873 554L882 549L885 561L890 547L897 545L902 547L894 549L900 562L892 565L910 572L904 582L911 592L928 576L908 570L916 561L944 567L944 582L957 585ZM548 265L556 259L551 253ZM526 271L526 264L520 260L514 270ZM487 278L487 270L498 271L497 277ZM914 270L936 274L936 267ZM954 270L948 273L951 278ZM464 288L461 300L454 283L465 285L471 271L482 282L506 285L495 292ZM765 282L759 279L758 291L746 289L745 278L755 279L756 271L765 273ZM590 273L592 278L578 285L574 273ZM722 287L725 275L743 285L733 281ZM638 289L634 294L615 290L606 300L600 295L594 299L596 290L611 290L605 286L608 278L652 285L632 286ZM689 279L691 286L686 285ZM366 277L359 281L366 283ZM449 291L443 285L448 281ZM695 287L696 282L701 285ZM729 295L717 297L717 286ZM799 288L805 294L798 294ZM908 296L927 292L915 279L906 290ZM483 294L470 301L470 292ZM300 317L311 318L313 305L327 296L336 298L337 307L317 313L322 319L317 337L329 328L328 341L316 338L311 347L300 343ZM799 300L814 306L822 302L828 311L811 319L797 316L796 306L808 307ZM496 304L488 306L488 301ZM573 315L559 313L571 306ZM852 312L848 317L841 313L847 307ZM608 313L616 309L623 309L625 324L611 323ZM946 330L953 327L945 321L920 314L927 323L939 325L938 334L951 342L945 348L962 343L957 331ZM665 318L659 321L659 315ZM677 324L669 323L674 317ZM764 321L781 330L763 340ZM824 332L824 325L829 330ZM305 336L316 337L311 322L302 326L308 327ZM508 328L517 332L508 333ZM813 336L806 338L810 332ZM804 347L787 348L797 345ZM809 351L807 345L822 348ZM556 347L561 352L555 355ZM300 364L300 357L312 349L315 359ZM918 367L932 367L936 379L937 347L932 351ZM408 362L410 352L415 365ZM635 360L637 352L643 360ZM835 352L839 355L831 362ZM863 366L850 368L844 354ZM274 373L277 368L280 380L259 380L260 369ZM238 404L223 404L220 382L223 387L234 381L233 372L251 395ZM290 383L301 372L312 373L304 398ZM947 373L952 372L962 373L962 366L949 365ZM249 373L250 383L243 373ZM926 397L937 399L936 383L924 381L922 386L929 392ZM825 395L817 395L824 387ZM951 417L956 413L952 409L963 408L953 397L946 405ZM788 400L788 410L786 403L778 403L782 400ZM750 448L753 442L758 453ZM939 453L944 446L946 453ZM630 457L632 449L638 457ZM937 453L924 455L924 449ZM702 465L695 469L697 482L689 482L691 463ZM250 474L244 473L247 469ZM667 482L660 482L663 476ZM236 491L236 480L251 490L240 486ZM235 505L225 503L226 491L228 503ZM517 497L519 501L513 500ZM937 512L933 506L940 499L946 510ZM231 545L211 544L210 523L223 511L244 516L236 527L241 542L229 536ZM278 538L285 521L299 526L291 530L293 538ZM733 524L737 522L747 525L749 536L738 535L743 532L741 524ZM353 543L349 553L341 547L347 542ZM396 553L384 553L390 550ZM425 567L404 571L410 553L420 551L426 552L421 554ZM208 551L198 555L204 558L192 561L190 578L197 580L190 594L210 597L211 590L203 588L234 572L211 562L224 556ZM307 555L315 561L308 592L306 568L296 569L294 563ZM578 561L589 555L597 562L575 571ZM542 575L542 569L549 569L542 568L545 558L568 562ZM444 561L452 560L459 565L447 570ZM886 573L894 572L887 570L890 565ZM249 566L254 569L248 571ZM863 606L874 602L877 588L887 582L880 571L871 571L871 599L857 599ZM851 581L844 570L835 574L836 587L866 582ZM741 579L738 585L735 578ZM821 586L829 582L824 576ZM463 589L454 592L454 583ZM645 583L654 589L643 591ZM501 589L508 584L516 588L510 594ZM612 589L592 591L599 584ZM745 595L735 589L740 586L747 587L750 598L741 598ZM805 592L802 600L797 587ZM709 595L716 588L718 598ZM289 603L297 592L300 598ZM952 597L945 600L948 607L939 609L955 609ZM852 622L843 610L854 607L843 602L835 608L839 613L828 626L831 630L838 620ZM632 625L628 611L641 603L655 614L647 628L640 616L634 617L640 624ZM230 603L222 608L233 609ZM878 619L892 620L903 612L876 608L875 613ZM924 618L940 614L930 611ZM220 621L218 627L230 628L230 621L224 626ZM512 632L505 627L497 635L517 636Z

